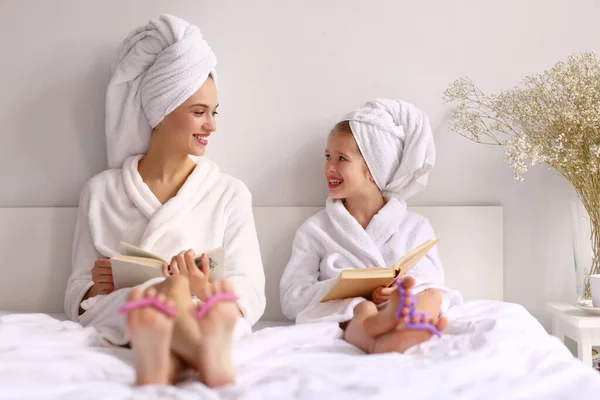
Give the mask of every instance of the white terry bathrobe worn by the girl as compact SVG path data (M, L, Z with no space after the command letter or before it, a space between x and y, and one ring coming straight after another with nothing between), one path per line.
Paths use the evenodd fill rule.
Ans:
M429 221L410 212L406 203L390 198L367 229L339 200L327 200L325 210L310 217L296 232L292 255L280 283L283 313L296 322L352 319L364 298L319 301L340 271L348 268L392 267L408 251L435 239ZM457 291L444 287L444 270L434 247L407 275L414 276L416 293L437 288L442 312L462 302Z

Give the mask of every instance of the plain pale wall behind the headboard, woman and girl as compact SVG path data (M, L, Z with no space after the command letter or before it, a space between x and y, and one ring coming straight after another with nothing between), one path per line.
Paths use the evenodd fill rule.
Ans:
M120 40L168 12L197 24L219 59L221 115L209 157L256 206L324 203L328 129L373 97L429 113L438 162L412 205L505 207L505 299L547 326L574 296L571 189L545 167L511 179L502 149L446 129L446 86L497 91L569 53L600 51L593 0L0 2L0 206L76 205L106 167L104 91ZM4 267L6 268L6 267Z

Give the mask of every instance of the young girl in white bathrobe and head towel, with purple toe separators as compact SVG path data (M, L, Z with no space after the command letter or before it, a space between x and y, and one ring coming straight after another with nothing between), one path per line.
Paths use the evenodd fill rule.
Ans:
M427 219L405 203L426 185L434 162L427 116L404 101L369 101L333 128L325 150L326 208L298 229L281 278L288 318L340 322L344 339L367 353L404 352L440 334L447 324L441 312L462 300L443 287L435 248L370 299L320 303L341 270L392 267L435 239Z

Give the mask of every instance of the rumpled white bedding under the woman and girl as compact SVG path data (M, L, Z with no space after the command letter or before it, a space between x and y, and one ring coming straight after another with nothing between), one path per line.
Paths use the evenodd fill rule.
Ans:
M45 314L0 316L0 399L574 399L600 393L585 367L521 306L467 302L442 338L364 355L335 323L273 327L234 345L238 383L132 386L131 353Z

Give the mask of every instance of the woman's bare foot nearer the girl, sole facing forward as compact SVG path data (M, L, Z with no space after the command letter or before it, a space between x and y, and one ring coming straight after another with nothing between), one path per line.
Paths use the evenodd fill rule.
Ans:
M216 294L233 294L233 286L228 280L208 285L201 299ZM233 328L240 317L235 301L219 301L199 318L200 351L196 365L200 379L209 387L235 383L235 370L231 361Z

